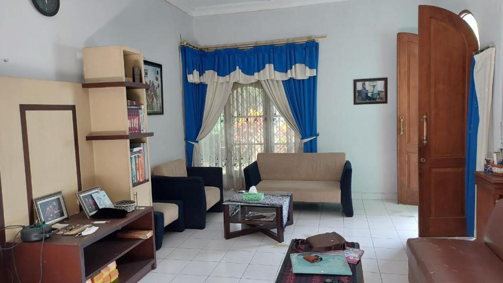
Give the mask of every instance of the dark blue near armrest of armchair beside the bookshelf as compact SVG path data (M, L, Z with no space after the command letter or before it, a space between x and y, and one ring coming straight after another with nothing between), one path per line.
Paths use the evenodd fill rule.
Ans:
M185 227L206 227L206 193L201 177L152 176L152 200L182 201Z

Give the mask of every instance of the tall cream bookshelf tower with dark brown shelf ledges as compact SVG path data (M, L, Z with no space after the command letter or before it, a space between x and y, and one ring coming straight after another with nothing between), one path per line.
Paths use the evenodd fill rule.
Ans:
M124 46L83 48L84 83L89 89L91 130L86 140L93 143L96 183L112 202L134 200L139 206L151 206L150 159L146 114L146 89L143 82L127 82L133 66L139 65L144 78L143 54ZM144 106L146 133L129 134L127 100ZM146 143L145 180L132 184L131 143ZM122 282L122 281L121 281Z

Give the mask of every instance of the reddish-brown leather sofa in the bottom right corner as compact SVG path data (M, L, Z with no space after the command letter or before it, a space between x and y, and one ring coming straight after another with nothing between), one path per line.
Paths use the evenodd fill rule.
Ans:
M407 240L409 283L503 282L503 201L496 204L483 240Z

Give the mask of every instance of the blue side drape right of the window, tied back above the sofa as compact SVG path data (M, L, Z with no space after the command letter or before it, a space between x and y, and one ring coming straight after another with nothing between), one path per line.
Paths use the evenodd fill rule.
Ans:
M317 76L307 79L288 79L283 81L286 97L293 117L299 127L301 139L314 139L304 143L304 152L317 152L316 88Z

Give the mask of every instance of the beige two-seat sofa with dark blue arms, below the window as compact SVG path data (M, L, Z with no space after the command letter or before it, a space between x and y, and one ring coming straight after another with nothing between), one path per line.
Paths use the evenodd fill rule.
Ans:
M295 202L341 203L353 216L351 176L345 153L259 153L244 169L246 190L292 192Z

